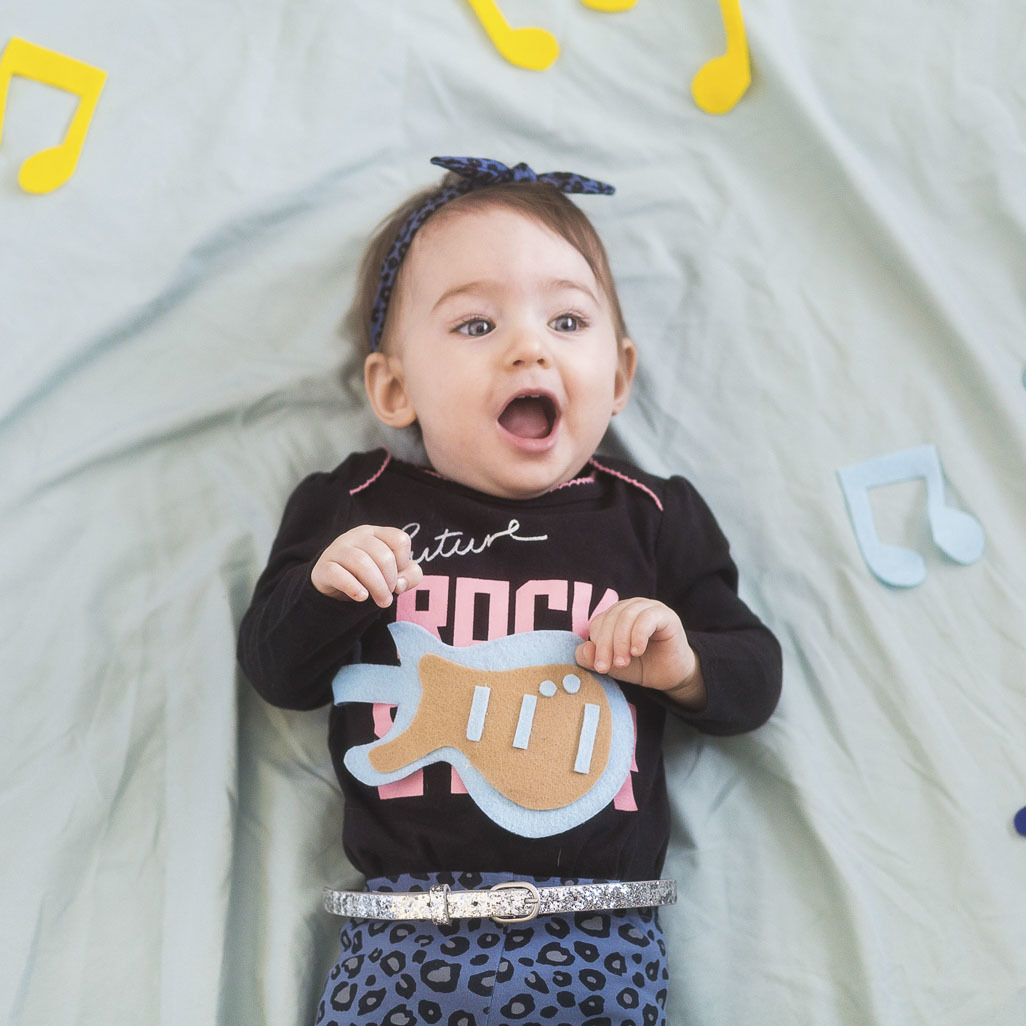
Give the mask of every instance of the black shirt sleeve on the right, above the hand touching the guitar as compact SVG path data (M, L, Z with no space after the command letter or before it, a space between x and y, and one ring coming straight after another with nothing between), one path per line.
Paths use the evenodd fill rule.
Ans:
M659 597L680 617L708 693L698 711L671 700L665 705L704 734L755 729L780 699L780 644L739 597L727 541L683 478L669 481L657 551Z

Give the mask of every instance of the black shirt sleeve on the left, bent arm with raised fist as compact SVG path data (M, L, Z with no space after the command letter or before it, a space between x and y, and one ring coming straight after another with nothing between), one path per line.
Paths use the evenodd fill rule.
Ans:
M286 709L331 701L334 674L381 613L372 602L322 595L310 580L318 556L349 526L345 467L308 477L292 494L239 626L242 669L268 702Z

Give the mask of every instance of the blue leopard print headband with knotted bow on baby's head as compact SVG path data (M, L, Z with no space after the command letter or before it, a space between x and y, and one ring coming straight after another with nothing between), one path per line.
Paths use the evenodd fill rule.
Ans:
M461 175L462 181L446 186L433 195L422 206L419 206L399 229L395 242L392 243L392 247L382 264L378 289L374 292L374 305L370 312L371 352L377 352L381 346L388 304L392 298L392 288L395 286L399 268L402 266L402 259L406 255L406 250L409 249L409 244L413 241L417 230L440 206L444 206L457 196L472 192L474 189L505 185L509 182L542 182L564 193L610 196L616 191L613 186L606 185L604 182L596 182L594 179L575 174L573 171L546 171L544 174L536 174L526 164L520 163L515 167L507 167L498 160L489 160L486 157L432 157L431 163L456 171L457 174Z

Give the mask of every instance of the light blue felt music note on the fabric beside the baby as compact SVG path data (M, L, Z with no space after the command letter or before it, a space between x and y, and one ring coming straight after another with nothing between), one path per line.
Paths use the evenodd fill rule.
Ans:
M968 566L983 555L980 521L949 506L944 498L944 473L935 445L887 452L837 471L847 511L866 565L884 584L914 588L926 577L922 556L912 549L881 542L876 534L869 489L922 478L926 482L926 516L934 544L955 562Z

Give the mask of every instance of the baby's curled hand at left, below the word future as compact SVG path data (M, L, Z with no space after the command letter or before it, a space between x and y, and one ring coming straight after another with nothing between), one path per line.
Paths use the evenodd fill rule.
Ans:
M330 598L365 601L369 596L383 609L392 595L401 595L421 583L424 573L412 560L412 542L398 527L362 524L340 535L310 571L313 586Z

